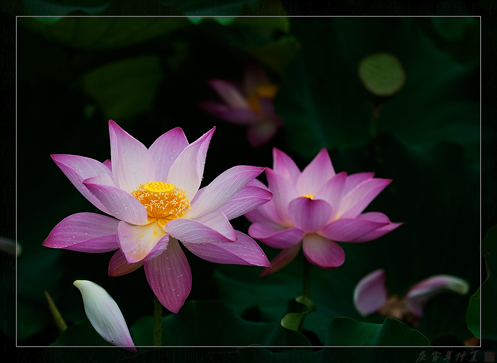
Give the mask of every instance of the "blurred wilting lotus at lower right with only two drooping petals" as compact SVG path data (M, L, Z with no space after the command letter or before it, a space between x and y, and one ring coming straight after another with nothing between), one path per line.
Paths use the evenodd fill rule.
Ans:
M363 316L378 312L415 325L423 316L424 304L432 296L447 290L462 295L469 291L469 284L463 279L435 275L415 284L403 296L389 295L385 279L385 271L379 269L366 275L355 287L354 304Z

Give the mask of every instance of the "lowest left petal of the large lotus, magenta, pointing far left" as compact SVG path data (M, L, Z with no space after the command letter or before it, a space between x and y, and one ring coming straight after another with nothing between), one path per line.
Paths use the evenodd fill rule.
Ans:
M119 248L119 220L94 213L77 213L59 222L42 245L81 252L108 252Z

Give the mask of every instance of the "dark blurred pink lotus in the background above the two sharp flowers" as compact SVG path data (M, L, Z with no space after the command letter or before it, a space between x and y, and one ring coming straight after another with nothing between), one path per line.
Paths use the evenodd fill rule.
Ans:
M277 87L269 81L260 67L248 66L243 86L222 79L211 79L209 84L223 102L205 101L200 107L221 120L248 125L247 138L250 145L267 143L283 125L272 102Z

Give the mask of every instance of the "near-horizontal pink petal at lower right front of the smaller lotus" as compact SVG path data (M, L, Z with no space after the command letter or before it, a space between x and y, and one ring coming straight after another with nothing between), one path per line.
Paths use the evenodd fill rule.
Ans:
M385 225L387 225L385 222L366 219L340 218L327 224L319 234L339 242L365 242L361 240L363 235Z

